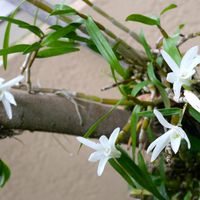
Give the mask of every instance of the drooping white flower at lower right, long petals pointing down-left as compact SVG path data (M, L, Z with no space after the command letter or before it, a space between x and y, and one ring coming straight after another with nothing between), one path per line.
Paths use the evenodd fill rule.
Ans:
M160 154L160 152L170 143L171 144L171 148L173 150L173 152L176 154L179 150L180 144L181 144L181 139L185 139L187 144L188 144L188 148L190 148L190 141L185 133L185 131L178 126L172 125L170 123L168 123L165 118L163 117L163 115L156 109L154 109L154 114L157 117L158 121L165 127L168 128L169 130L164 133L163 135L161 135L160 137L158 137L156 140L154 140L148 147L147 149L147 153L149 153L150 151L152 151L153 149L153 153L151 156L151 162L153 162L158 155Z

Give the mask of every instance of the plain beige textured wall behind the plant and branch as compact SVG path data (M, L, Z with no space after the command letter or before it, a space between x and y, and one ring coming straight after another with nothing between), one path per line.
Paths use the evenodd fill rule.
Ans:
M54 1L55 2L55 1ZM176 25L187 23L185 32L200 30L199 0L99 0L99 6L123 22L125 17L133 12L143 14L158 14L161 8L169 3L177 3L179 8L171 14L163 16L163 26L172 33ZM84 12L94 14L91 9ZM104 21L96 15L96 19ZM125 23L125 22L123 22ZM106 22L109 27L126 41L125 37ZM140 28L147 31L150 43L154 44L159 32L153 27L135 23L126 23L139 32ZM2 36L1 36L2 37ZM199 38L192 44L199 44ZM10 62L9 70L1 72L3 77L13 77L19 71L22 57L17 56ZM33 66L33 82L44 87L70 88L89 94L109 97L119 96L115 90L100 92L100 88L112 83L109 77L109 67L99 56L91 54L87 49L57 58L38 60ZM59 140L65 150L55 140ZM12 177L0 192L1 200L125 200L128 197L128 187L118 174L107 166L102 177L96 175L96 165L88 163L89 150L82 148L77 155L78 143L72 136L50 133L24 132L15 138L0 141L0 155L12 169Z

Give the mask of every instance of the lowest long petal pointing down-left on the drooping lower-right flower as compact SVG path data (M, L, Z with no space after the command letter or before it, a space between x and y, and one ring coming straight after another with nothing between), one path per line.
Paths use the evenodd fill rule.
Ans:
M157 138L156 146L155 146L155 149L153 150L153 153L151 156L151 162L153 162L158 157L160 152L167 146L167 144L170 141L171 132L172 132L172 130L169 130L166 133L164 133L162 136ZM150 146L149 146L149 148L150 148Z

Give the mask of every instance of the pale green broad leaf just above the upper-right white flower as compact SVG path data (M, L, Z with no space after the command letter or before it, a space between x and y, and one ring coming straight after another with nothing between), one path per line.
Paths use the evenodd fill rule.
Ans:
M179 36L173 38L165 38L163 40L163 48L164 50L172 57L172 59L176 62L177 65L181 63L181 55L176 47L179 41Z

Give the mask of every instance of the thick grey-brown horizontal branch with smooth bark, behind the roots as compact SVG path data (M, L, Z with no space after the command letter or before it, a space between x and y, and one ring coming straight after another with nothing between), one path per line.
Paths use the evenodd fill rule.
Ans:
M0 104L0 125L3 129L45 131L78 136L83 135L100 116L111 108L110 106L75 99L83 120L83 125L80 125L74 104L64 97L54 94L28 94L16 91L13 94L17 106L12 107L12 120L7 118L3 106ZM114 110L100 124L93 137L99 137L102 134L109 136L114 128L122 128L129 116L128 111ZM2 131L0 131L0 136L1 134L3 134Z

